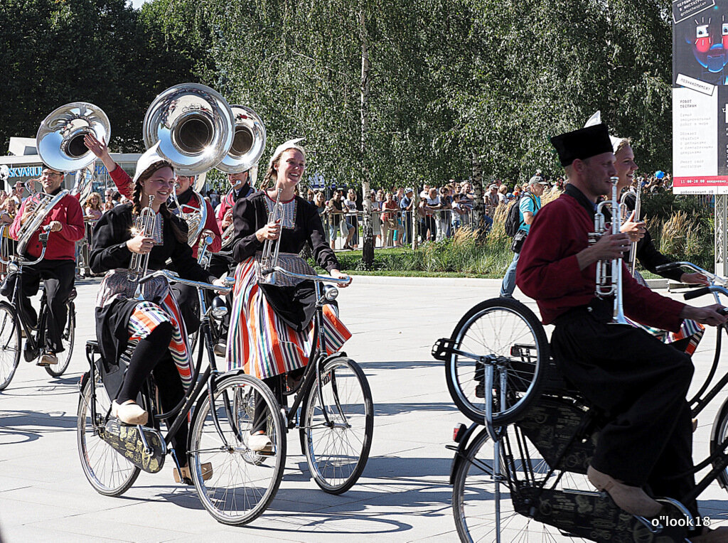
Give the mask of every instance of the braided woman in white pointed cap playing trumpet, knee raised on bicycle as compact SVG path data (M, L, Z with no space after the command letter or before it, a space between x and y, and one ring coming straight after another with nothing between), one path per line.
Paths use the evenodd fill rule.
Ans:
M125 424L146 424L148 413L135 400L149 373L154 372L162 411L170 411L182 399L185 387L191 385L191 357L179 307L167 281L154 278L143 285L141 296L135 297L137 283L130 280L129 272L132 254L149 258L149 271L163 269L171 258L185 279L215 282L215 277L192 256L186 224L167 210L165 202L174 190L175 175L170 163L157 154L157 146L141 156L133 182L132 203L114 207L96 224L90 261L94 273L106 271L96 298L96 336L106 372L114 371L119 355L134 345L129 368L112 403L112 415ZM151 237L134 230L135 219L146 205L154 211ZM183 424L172 445L182 467L181 475L175 469L175 480L191 484L187 432Z

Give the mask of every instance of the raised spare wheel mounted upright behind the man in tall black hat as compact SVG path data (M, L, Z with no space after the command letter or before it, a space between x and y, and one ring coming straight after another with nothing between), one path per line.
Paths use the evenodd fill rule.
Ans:
M445 364L448 391L473 422L484 424L486 418L487 364L494 368L494 423L518 419L539 397L549 360L548 341L536 315L521 302L507 298L480 302L458 322L451 339L454 349L487 358L483 362L452 354Z

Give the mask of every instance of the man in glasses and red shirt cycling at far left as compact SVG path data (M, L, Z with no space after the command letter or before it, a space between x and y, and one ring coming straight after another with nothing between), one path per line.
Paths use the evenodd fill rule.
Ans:
M63 185L63 173L44 166L40 181L46 194L58 194ZM20 206L15 221L10 226L10 235L13 238L17 239L20 227L33 216L34 203L33 197L28 197ZM63 351L60 340L66 326L66 301L74 288L76 242L85 233L84 215L78 199L68 194L63 197L41 223L41 226L46 225L50 226L46 253L43 260L34 266L23 266L23 288L18 299L23 314L31 323L37 322L30 296L38 293L40 280L43 280L48 298L48 330L44 354L38 365L58 364L56 354ZM41 255L41 250L39 231L36 231L28 242L27 256L35 260Z

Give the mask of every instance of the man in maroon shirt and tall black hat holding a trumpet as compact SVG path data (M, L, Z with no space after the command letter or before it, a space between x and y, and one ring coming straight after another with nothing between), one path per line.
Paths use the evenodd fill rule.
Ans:
M679 499L695 486L692 421L685 400L693 367L687 354L644 330L612 324L613 298L595 296L596 266L629 250L628 234L604 234L589 245L601 194L611 194L614 155L604 124L555 136L551 142L569 175L565 193L531 225L516 282L555 325L553 357L593 406L609 413L587 475L623 510L654 517L656 496ZM644 288L623 271L625 313L632 320L678 330L684 318L719 325L721 306L697 308ZM695 502L685 504L697 515ZM698 541L699 539L695 539Z

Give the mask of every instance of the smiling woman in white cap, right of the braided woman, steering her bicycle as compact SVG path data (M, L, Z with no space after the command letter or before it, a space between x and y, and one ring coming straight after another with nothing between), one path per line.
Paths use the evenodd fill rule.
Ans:
M298 141L288 141L275 150L263 181L263 187L269 188L238 200L233 209L232 257L238 265L226 361L230 370L242 368L245 373L263 379L279 396L280 376L300 376L308 361L316 300L310 281L290 281L276 274L275 285L266 284L259 274L264 243L280 237L278 263L285 269L315 274L298 256L308 244L314 259L331 277L347 277L339 271L339 261L326 243L316 206L296 196L296 186L306 169L306 151ZM269 222L277 199L282 204L282 218ZM333 306L324 306L324 316L327 349L336 352L351 334ZM248 442L254 451L272 448L264 433L263 415L256 413L255 420L261 424L253 428Z

